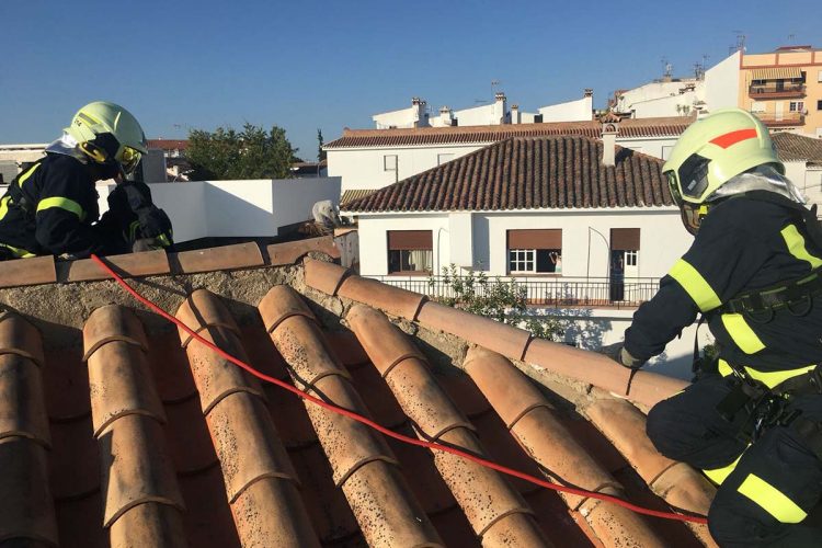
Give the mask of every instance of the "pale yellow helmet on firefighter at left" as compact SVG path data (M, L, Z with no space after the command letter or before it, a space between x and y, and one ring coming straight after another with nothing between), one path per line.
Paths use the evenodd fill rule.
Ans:
M137 118L107 101L95 101L80 109L65 132L93 161L116 163L125 173L133 172L148 152L146 135Z

